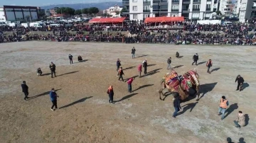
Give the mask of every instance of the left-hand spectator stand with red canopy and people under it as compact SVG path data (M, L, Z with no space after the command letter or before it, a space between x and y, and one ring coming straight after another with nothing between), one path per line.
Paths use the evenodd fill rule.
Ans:
M123 28L125 18L93 18L89 21L95 28Z

